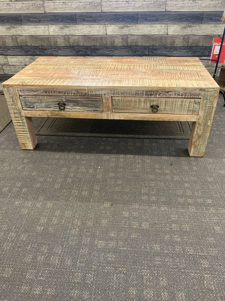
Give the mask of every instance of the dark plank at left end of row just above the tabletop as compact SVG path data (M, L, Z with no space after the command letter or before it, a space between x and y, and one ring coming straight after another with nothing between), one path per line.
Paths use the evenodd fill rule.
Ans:
M40 55L37 46L0 46L0 55Z

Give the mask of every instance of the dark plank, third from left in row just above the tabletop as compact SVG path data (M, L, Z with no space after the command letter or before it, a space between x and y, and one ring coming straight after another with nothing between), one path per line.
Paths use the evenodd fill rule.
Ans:
M148 46L91 46L91 55L144 56L148 55Z

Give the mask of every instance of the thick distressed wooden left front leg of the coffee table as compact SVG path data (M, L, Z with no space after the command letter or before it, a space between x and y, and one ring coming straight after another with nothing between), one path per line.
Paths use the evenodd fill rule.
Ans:
M3 88L3 91L21 148L33 150L37 144L37 137L33 127L32 118L23 115L16 88Z

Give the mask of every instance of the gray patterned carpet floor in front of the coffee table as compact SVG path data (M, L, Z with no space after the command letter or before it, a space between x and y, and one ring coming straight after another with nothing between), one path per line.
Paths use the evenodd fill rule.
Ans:
M225 108L188 140L0 133L0 300L225 300Z

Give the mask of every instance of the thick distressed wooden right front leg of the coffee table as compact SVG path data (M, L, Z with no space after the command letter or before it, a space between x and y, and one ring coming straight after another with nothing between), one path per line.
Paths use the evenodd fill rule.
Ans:
M218 96L219 91L202 91L198 119L192 124L188 144L190 156L203 157L205 154Z

